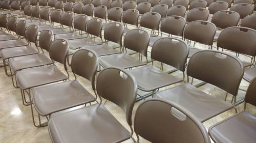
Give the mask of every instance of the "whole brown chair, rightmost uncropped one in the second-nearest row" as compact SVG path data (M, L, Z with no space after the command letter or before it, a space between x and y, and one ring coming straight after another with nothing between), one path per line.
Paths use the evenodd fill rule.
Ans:
M214 69L221 69L221 74ZM156 93L156 97L183 106L199 121L205 122L231 108L237 112L234 105L236 105L236 97L243 74L243 64L235 56L215 50L198 51L191 56L188 62L187 83L160 91ZM189 76L215 85L233 95L234 102L225 102L194 87L189 83Z

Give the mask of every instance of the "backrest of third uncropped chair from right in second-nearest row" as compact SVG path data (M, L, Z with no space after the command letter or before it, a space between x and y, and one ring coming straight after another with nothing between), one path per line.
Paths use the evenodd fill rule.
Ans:
M125 48L137 51L147 57L147 47L150 42L150 34L142 29L133 29L126 33L123 45Z

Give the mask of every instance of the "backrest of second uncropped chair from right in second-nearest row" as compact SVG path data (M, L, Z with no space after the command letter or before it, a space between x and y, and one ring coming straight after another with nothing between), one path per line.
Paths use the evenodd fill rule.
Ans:
M180 39L164 37L152 46L151 58L184 72L189 52L187 43Z

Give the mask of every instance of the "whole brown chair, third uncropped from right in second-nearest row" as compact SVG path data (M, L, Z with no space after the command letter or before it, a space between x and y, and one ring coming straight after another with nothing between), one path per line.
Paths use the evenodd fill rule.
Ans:
M133 29L126 33L123 41L123 46L125 51L127 48L144 55L147 62L147 47L149 42L150 34L148 34L145 30L142 29ZM116 66L125 69L131 69L133 67L146 65L146 63L144 62L135 60L128 53L102 56L99 59L99 64L104 68Z

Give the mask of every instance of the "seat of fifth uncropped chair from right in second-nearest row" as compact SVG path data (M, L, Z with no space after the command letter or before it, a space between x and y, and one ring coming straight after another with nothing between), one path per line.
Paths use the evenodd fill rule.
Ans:
M95 42L90 38L83 38L83 39L69 40L69 45L71 49L78 49L83 46L100 45L100 43Z

